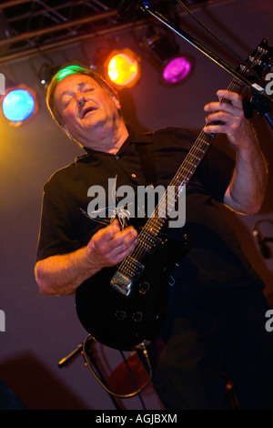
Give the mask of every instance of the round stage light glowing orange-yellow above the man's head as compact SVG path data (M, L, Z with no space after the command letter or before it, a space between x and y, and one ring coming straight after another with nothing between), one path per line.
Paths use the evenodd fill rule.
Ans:
M140 77L140 59L131 49L112 52L105 62L105 73L117 87L134 87Z

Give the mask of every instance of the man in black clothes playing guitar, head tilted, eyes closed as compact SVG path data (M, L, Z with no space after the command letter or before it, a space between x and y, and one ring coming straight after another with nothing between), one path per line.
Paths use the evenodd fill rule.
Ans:
M205 130L227 134L237 149L236 162L212 146L187 186L181 233L192 236L194 246L172 271L165 321L148 346L153 384L167 409L223 409L225 372L241 408L272 409L272 339L265 330L263 284L214 203L247 215L258 212L267 167L241 97L224 90L217 96L218 102L205 107ZM76 291L136 247L133 226L121 228L109 219L102 227L99 219L83 215L88 189L106 189L108 178L136 191L149 184L139 144L152 147L157 183L167 187L194 139L177 128L137 135L121 116L116 93L100 76L77 66L54 77L47 105L66 134L86 150L45 184L35 275L44 294L58 295Z

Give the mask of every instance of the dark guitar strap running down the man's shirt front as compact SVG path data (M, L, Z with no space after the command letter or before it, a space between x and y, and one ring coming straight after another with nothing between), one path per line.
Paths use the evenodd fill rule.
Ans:
M140 163L147 186L157 187L157 174L155 168L155 159L153 144L136 144L136 151L140 158Z

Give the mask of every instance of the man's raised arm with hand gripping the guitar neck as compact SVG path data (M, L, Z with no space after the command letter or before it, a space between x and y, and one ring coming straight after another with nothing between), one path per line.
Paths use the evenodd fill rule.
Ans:
M231 182L227 188L224 203L243 214L255 214L261 208L266 193L268 169L259 148L258 138L245 118L241 97L236 93L218 91L219 98L227 103L210 103L205 111L213 112L207 122L220 120L224 125L208 125L207 133L225 133L230 143L237 148L237 161Z

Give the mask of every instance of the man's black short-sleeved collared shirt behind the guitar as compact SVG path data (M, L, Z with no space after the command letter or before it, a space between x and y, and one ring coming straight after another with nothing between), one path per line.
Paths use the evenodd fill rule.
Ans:
M149 184L137 144L152 145L157 185L166 188L194 141L194 134L183 128L167 127L147 135L130 131L116 155L87 149L86 155L56 171L45 183L37 260L78 250L110 221L106 216L90 219L86 215L96 189L106 190L105 205L109 207L109 183L115 182L116 189L126 185L135 190ZM262 285L215 203L223 202L233 168L233 160L212 145L187 184L185 226L169 229L171 237L187 233L194 239L193 249L177 260L172 273L172 280L188 289Z

